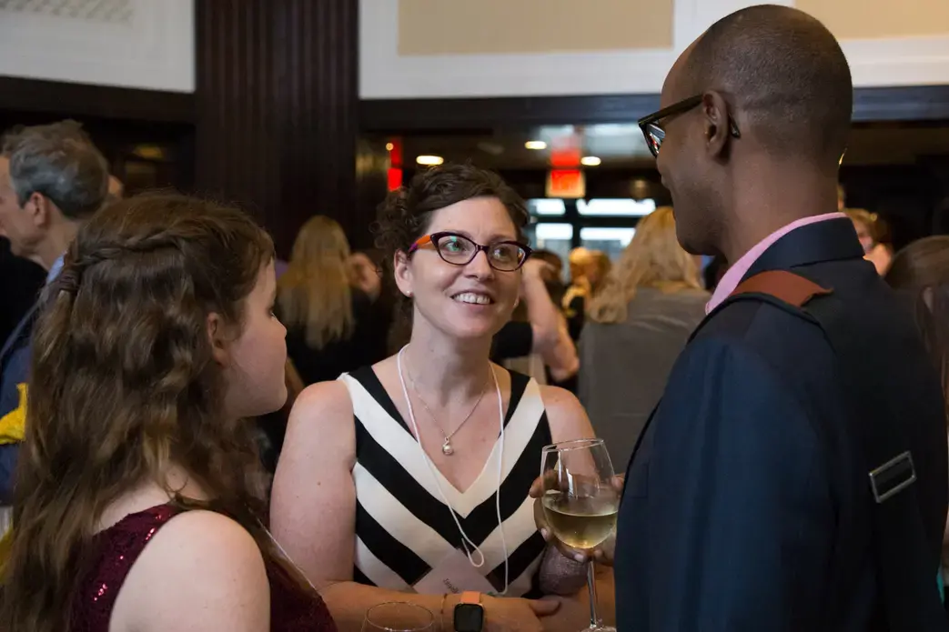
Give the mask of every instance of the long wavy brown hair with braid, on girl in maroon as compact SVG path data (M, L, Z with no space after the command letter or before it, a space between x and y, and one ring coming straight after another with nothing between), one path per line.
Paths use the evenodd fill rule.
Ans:
M258 522L250 428L224 414L207 334L216 312L239 335L272 257L270 237L243 212L185 196L124 200L80 230L35 330L0 629L68 629L102 512L149 481L185 508L227 513L265 559L277 557ZM168 489L171 464L212 500Z

